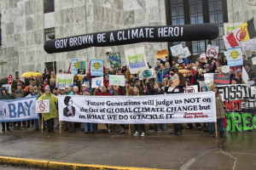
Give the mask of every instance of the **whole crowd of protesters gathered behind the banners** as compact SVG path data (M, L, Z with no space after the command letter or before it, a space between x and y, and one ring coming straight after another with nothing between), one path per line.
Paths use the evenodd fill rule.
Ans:
M253 52L253 55L255 53ZM246 57L243 56L244 67L247 71L248 77L251 81L256 82L255 73L251 70L250 64ZM204 74L206 73L222 73L222 67L227 65L227 59L224 56L221 60L218 59L201 59L200 61L195 61L191 64L177 64L172 61L172 58L166 56L166 59L158 59L156 61L156 66L154 67L155 78L140 80L137 74L131 74L129 69L123 65L122 68L107 68L104 69L104 82L102 87L90 88L91 79L90 73L79 79L78 76L73 77L73 84L66 87L56 87L56 76L55 72L49 73L46 68L44 70L43 77L37 78L26 78L23 81L20 77L16 78L17 85L15 89L11 90L11 93L3 87L1 89L0 99L19 99L26 96L37 96L39 100L49 99L49 114L44 114L43 129L48 133L54 132L55 127L63 126L64 131L68 133L75 133L76 130L83 129L84 133L94 133L97 129L95 123L78 123L78 122L62 122L60 125L58 121L58 105L57 97L58 95L99 95L99 96L111 96L111 95L155 95L155 94L182 94L183 88L188 85L199 85L200 81L204 81ZM148 65L150 68L151 66ZM186 70L186 75L179 72L179 70ZM241 78L242 67L230 68L230 84L244 83ZM59 74L62 71L59 70ZM65 73L65 72L64 72ZM109 75L125 75L125 87L111 86L109 85ZM88 82L88 83L85 83ZM90 87L88 87L90 86ZM255 86L255 83L253 84ZM198 86L199 87L199 86ZM218 94L218 88L213 84L210 87L203 86L199 91L215 91L216 94L216 112L217 112L217 125L218 132L221 137L225 137L224 129L224 105L223 101ZM67 105L67 111L64 111L67 116L72 116L75 114L75 110L72 105L73 102L71 98L66 98L64 103ZM39 114L41 118L42 115ZM39 122L42 120L32 120L23 122L2 122L2 131L9 131L10 126L12 127L31 127L35 126L36 130L39 130ZM196 128L199 130L203 129L205 132L209 132L211 136L215 131L215 123L195 123ZM125 125L121 124L116 133L125 133ZM108 127L110 128L110 127ZM161 132L165 130L165 124L150 124L149 128L151 130ZM188 123L186 128L193 128L192 123ZM141 132L141 134L140 134ZM172 134L182 135L183 134L183 124L175 123L173 124ZM145 124L135 124L134 125L134 136L145 136L146 127Z

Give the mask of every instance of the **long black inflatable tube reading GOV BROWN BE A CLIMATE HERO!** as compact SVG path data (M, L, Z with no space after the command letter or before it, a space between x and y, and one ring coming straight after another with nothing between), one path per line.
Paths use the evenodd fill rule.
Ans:
M213 40L217 37L218 26L210 23L184 26L143 26L49 40L44 43L44 50L53 54L90 47L116 46L138 42L184 42Z

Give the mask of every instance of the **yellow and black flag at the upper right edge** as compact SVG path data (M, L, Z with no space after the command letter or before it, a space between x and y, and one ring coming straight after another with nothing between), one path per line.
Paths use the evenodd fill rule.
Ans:
M242 42L246 42L253 37L256 37L256 29L254 20L248 20L246 23L240 26Z

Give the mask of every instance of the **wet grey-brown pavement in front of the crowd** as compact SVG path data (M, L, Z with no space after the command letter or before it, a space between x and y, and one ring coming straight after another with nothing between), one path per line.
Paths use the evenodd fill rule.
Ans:
M211 138L196 129L182 136L147 131L145 137L102 133L43 133L13 128L0 133L0 155L122 167L161 169L255 169L256 133Z

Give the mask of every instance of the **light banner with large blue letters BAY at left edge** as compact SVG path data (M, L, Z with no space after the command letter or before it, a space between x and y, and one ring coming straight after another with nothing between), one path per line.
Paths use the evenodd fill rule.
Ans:
M38 119L37 97L0 100L0 122L20 122Z

